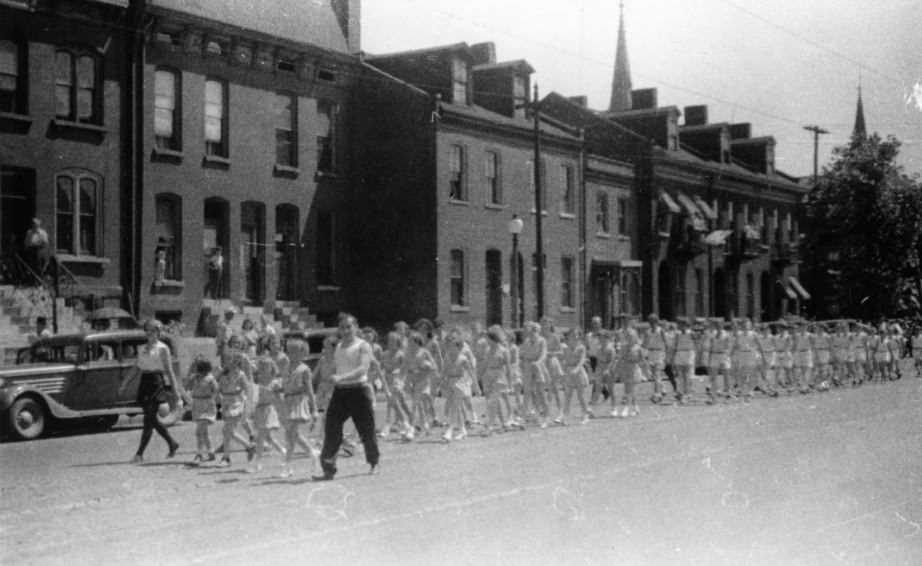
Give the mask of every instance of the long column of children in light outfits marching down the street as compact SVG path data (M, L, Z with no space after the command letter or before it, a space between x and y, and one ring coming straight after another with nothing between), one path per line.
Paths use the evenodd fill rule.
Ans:
M283 351L275 333L254 339L250 331L222 338L219 370L206 359L193 363L186 387L196 421L194 463L214 461L215 452L223 452L219 465L228 466L237 443L248 461L255 460L248 471L261 470L270 447L282 455L283 476L291 475L299 447L316 467L319 454L303 428L322 434L323 426L316 425L333 389L336 338L324 341L311 369L305 342L291 340ZM530 424L585 424L598 414L600 402L612 417L633 417L639 413L635 386L641 382L652 382L653 403L664 402L670 383L674 402L684 405L749 402L756 393L807 394L899 379L898 362L907 352L922 375L922 328L909 336L896 324L754 324L746 319L693 324L661 322L652 315L646 323L614 331L593 319L585 334L577 328L561 334L547 318L527 322L519 332L477 324L445 330L422 319L412 327L396 323L383 344L371 328L363 329L361 338L372 344L370 377L387 404L378 435L406 442L435 428L442 429L443 442L453 442L469 432L489 436ZM706 377L696 387L697 374ZM484 397L483 415L474 410L477 395ZM444 400L440 411L438 397ZM571 419L574 397L579 416ZM223 444L213 450L208 430L216 423L218 400ZM275 437L279 429L284 446ZM353 447L345 444L347 455Z

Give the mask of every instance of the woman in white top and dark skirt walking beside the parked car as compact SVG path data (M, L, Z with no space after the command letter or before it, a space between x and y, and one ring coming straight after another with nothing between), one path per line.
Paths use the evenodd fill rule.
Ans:
M144 460L144 450L154 431L163 437L169 446L167 458L176 455L179 443L173 440L169 431L157 419L157 411L162 403L169 400L170 389L178 392L178 383L173 374L173 363L170 358L170 348L160 341L160 331L163 326L156 320L144 323L147 333L147 343L138 349L138 360L133 368L133 375L124 383L132 381L138 374L141 383L138 385L137 403L144 408L144 428L141 431L141 443L132 462Z

